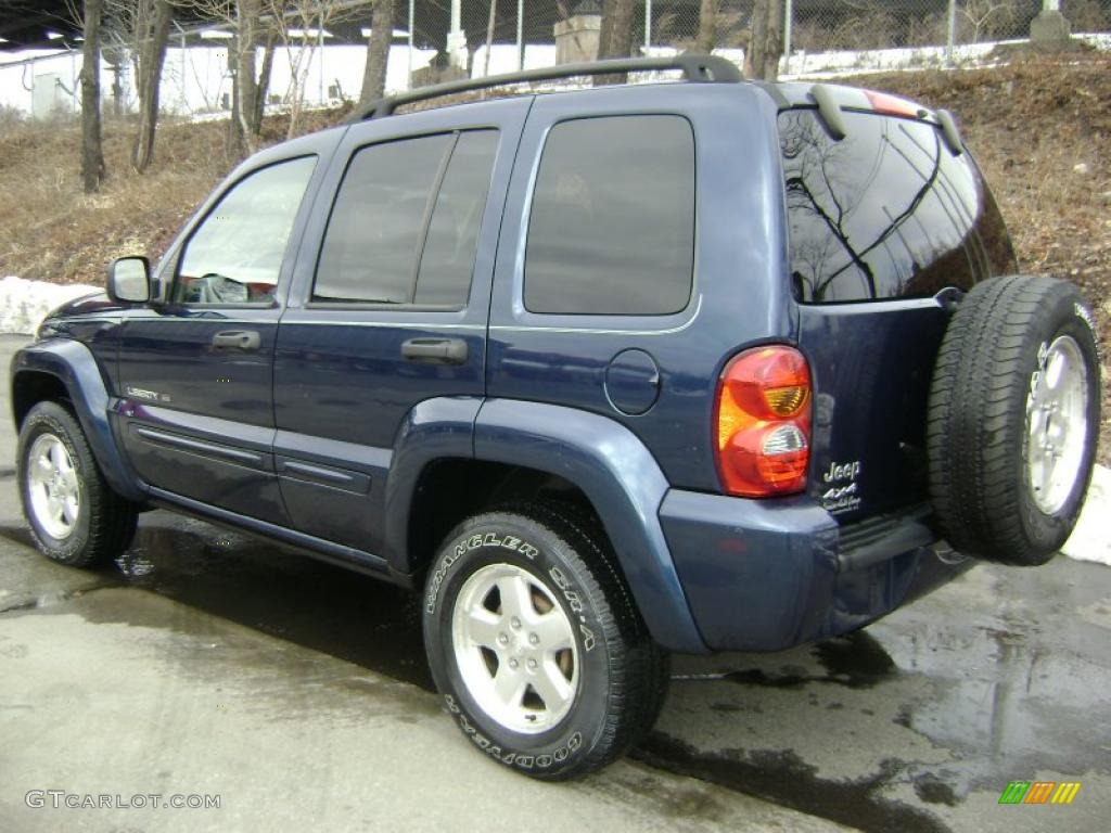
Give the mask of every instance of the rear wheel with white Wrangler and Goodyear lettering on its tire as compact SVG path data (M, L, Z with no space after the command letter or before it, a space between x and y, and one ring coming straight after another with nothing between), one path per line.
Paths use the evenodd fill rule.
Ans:
M460 524L429 572L423 619L449 713L519 772L598 770L659 711L667 663L604 541L568 513L532 505Z

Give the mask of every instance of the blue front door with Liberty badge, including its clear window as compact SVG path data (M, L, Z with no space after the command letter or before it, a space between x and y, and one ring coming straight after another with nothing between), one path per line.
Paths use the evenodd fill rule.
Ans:
M139 476L288 523L273 473L273 351L314 154L248 171L172 257L164 302L126 317L119 433ZM303 219L300 224L303 224Z

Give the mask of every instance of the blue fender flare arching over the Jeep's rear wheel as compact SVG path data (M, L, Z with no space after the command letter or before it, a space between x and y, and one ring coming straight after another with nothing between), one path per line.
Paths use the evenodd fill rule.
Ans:
M386 542L399 558L408 549L409 508L421 472L444 458L521 465L577 485L601 519L653 639L672 651L707 653L660 523L667 478L628 428L539 402L421 402L399 431L387 484Z

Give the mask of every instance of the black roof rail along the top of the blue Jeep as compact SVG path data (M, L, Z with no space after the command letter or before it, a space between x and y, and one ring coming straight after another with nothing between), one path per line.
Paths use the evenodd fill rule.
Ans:
M607 61L590 61L589 63L563 63L558 67L524 70L523 72L507 72L501 76L449 81L442 84L423 87L410 92L401 92L397 96L388 96L378 101L372 101L364 107L356 108L347 118L347 121L358 122L366 119L380 119L392 114L394 109L402 104L436 99L441 96L451 96L457 92L486 90L491 87L501 87L502 84L553 81L560 78L574 78L577 76L650 72L653 70L682 70L688 81L700 83L737 83L744 80L744 76L737 68L735 63L720 56L709 54L679 54L672 58L619 58Z

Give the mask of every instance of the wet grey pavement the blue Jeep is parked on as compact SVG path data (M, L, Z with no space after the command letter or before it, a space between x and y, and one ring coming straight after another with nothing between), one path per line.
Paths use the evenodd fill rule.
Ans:
M538 784L440 714L403 591L166 512L111 568L37 555L2 400L0 831L1111 829L1107 566L981 565L848 638L675 658L631 760ZM1010 781L1082 785L1001 806ZM29 809L29 790L221 809Z

